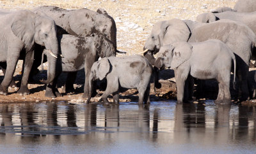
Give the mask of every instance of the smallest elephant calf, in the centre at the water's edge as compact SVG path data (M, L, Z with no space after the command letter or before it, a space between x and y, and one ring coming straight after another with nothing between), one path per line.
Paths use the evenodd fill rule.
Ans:
M92 97L92 81L106 78L108 85L102 94L102 100L108 102L108 95L113 94L114 103L119 103L119 87L137 88L139 104L150 103L150 78L152 65L141 55L108 57L93 63L89 77L89 97Z

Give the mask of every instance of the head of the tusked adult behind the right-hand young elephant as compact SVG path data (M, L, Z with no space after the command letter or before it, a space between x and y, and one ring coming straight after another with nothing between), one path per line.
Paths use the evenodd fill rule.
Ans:
M144 55L147 59L154 59L153 54L159 52L161 46L170 45L176 41L188 41L190 35L188 25L182 20L172 19L157 22L145 42L144 50L148 50L148 52L145 52Z

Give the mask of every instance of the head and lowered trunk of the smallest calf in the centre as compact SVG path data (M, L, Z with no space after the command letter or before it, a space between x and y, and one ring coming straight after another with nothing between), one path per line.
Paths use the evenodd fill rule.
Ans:
M93 90L93 81L95 80L103 80L108 75L109 71L111 71L111 64L108 58L103 58L97 62L94 62L91 68L90 76L89 76L89 95L87 103L90 101L92 97Z

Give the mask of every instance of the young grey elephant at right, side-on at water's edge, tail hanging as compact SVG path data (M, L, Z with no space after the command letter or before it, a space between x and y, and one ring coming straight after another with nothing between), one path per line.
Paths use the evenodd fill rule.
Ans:
M217 39L209 39L200 43L176 42L163 46L157 55L155 66L159 69L164 67L174 69L178 102L188 101L189 94L184 96L184 87L190 75L200 80L218 80L219 92L215 102L230 103L229 85L232 60L234 61L235 81L236 57L234 53L225 43ZM193 90L190 92L193 93Z

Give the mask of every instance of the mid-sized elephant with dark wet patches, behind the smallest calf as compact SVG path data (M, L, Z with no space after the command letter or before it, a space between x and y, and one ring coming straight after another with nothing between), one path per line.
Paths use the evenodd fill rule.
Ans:
M89 76L93 62L99 57L115 56L115 45L102 34L87 36L85 38L64 34L58 36L60 43L60 52L63 57L59 57L56 66L56 78L54 82L47 85L45 97L61 96L56 89L58 76L61 72L74 72L84 68L84 94L83 97L88 97ZM44 51L44 53L47 53ZM49 53L47 53L49 57Z

